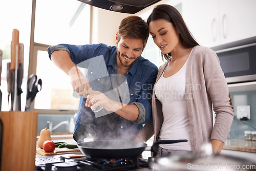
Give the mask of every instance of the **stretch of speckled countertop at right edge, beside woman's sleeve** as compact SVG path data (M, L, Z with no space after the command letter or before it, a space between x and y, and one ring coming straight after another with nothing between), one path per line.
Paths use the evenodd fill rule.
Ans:
M240 152L256 153L256 141L241 139L227 139L223 149L229 149Z

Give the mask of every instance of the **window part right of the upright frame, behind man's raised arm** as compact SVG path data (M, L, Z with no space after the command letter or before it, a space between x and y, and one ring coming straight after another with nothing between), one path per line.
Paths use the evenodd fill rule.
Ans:
M42 79L42 90L37 93L34 108L40 113L49 112L45 110L74 113L79 99L72 95L70 78L54 65L46 50L49 45L90 43L90 6L79 1L37 0L34 30L32 51L37 58L30 58L37 65L30 69Z

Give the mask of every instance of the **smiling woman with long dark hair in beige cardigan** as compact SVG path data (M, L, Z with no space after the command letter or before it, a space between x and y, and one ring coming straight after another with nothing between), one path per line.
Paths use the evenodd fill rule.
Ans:
M167 61L159 68L153 90L153 120L144 125L135 141L146 142L153 134L154 142L188 140L160 144L158 156L197 151L209 141L213 151L220 153L233 120L233 107L218 56L198 45L172 6L156 6L147 24Z

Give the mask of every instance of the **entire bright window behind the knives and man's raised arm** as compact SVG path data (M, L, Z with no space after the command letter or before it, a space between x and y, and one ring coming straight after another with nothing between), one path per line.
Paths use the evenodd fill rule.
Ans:
M40 114L74 114L79 99L72 96L69 76L49 59L47 48L62 43L89 44L91 7L70 0L13 0L0 2L0 14L4 16L0 33L0 49L4 53L0 86L3 92L2 111L9 111L6 63L10 62L12 30L18 29L19 42L24 44L25 49L22 111L26 104L28 76L36 74L42 79L42 89L37 93L31 109Z

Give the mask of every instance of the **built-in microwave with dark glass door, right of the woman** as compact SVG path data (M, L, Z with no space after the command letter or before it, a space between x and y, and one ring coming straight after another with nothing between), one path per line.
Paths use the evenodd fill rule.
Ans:
M212 48L228 83L256 80L256 37Z

